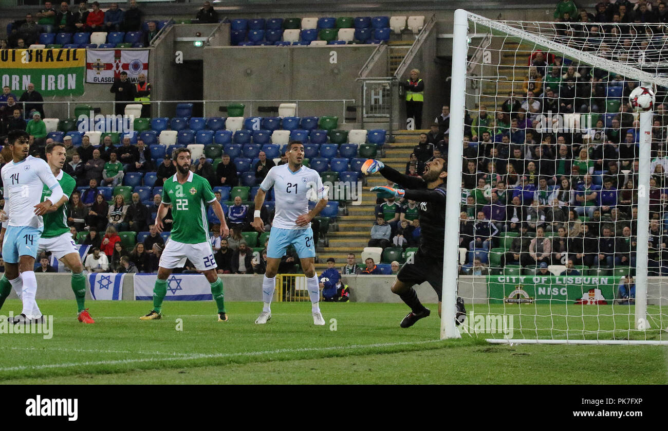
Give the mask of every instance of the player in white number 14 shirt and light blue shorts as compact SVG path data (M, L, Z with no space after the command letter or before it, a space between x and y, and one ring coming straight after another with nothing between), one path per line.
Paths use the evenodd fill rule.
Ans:
M0 211L3 222L0 243L5 261L5 274L0 279L0 307L11 286L21 291L23 311L14 323L41 320L41 311L35 303L35 257L44 229L41 216L63 197L63 189L49 165L41 158L28 155L28 139L23 130L9 132L7 142L13 160L5 164L0 173L5 188L5 209ZM51 190L51 196L41 202L44 185Z

